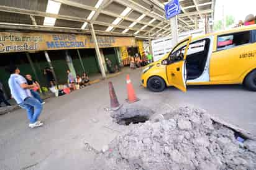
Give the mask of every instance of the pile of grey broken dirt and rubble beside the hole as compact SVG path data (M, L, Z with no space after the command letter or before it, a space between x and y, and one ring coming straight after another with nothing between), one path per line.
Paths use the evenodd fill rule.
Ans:
M164 117L130 125L93 169L256 169L255 141L238 141L204 110L180 107Z

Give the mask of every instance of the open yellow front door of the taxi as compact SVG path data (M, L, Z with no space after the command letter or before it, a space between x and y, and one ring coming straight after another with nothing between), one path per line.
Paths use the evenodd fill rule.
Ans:
M190 42L191 36L178 43L171 50L166 66L168 83L183 92L186 92L186 55Z

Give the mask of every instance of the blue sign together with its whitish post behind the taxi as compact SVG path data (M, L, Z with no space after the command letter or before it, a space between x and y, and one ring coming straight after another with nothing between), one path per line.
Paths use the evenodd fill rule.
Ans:
M172 0L165 4L165 16L170 19L171 24L171 35L173 38L173 43L178 43L178 17L180 14L180 3L178 0Z

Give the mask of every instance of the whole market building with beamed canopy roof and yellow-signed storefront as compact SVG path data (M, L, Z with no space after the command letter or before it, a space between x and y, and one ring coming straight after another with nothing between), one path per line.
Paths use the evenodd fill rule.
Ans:
M196 29L198 20L213 17L214 1L181 1L179 32ZM171 34L162 2L150 1L1 1L0 74L6 87L9 64L45 83L43 69L51 67L58 83L73 74L101 73L106 58L129 65L135 53L152 53L151 40Z

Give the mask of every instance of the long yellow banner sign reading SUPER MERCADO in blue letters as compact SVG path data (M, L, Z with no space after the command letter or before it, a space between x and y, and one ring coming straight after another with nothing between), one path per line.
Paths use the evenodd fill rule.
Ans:
M97 36L99 48L135 46L133 37ZM0 53L95 48L90 35L0 32Z

